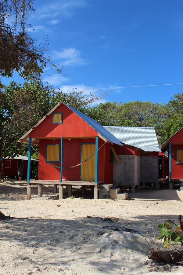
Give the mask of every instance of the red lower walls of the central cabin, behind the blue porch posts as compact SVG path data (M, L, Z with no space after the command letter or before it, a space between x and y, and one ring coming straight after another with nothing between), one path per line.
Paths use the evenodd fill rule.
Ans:
M53 167L45 162L46 144L60 144L60 139L56 140L40 140L39 143L39 180L60 180L60 168ZM80 147L81 143L95 143L95 139L68 139L63 140L63 167L70 167L80 163ZM99 148L104 141L99 138ZM44 158L44 159L43 159ZM60 167L59 162L53 162L54 165ZM72 169L63 169L63 179L69 181L79 181L80 167ZM110 164L110 144L107 143L99 149L98 153L98 181L113 183L113 164Z

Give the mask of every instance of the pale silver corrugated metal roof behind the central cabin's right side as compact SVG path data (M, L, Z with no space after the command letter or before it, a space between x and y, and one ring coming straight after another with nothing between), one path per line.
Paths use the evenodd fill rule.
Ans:
M154 127L104 126L104 128L124 144L146 152L161 152Z

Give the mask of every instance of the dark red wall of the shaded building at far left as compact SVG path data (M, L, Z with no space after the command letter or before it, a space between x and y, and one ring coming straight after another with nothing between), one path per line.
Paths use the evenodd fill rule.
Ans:
M5 163L6 163L6 160L11 160L11 167L10 168L5 168ZM18 176L18 168L17 168L17 165L18 165L18 161L21 161L21 160L17 160L17 159L4 159L3 160L3 165L4 165L4 177L5 176L9 176L9 177L17 177ZM23 160L23 174L24 176L27 175L27 160Z

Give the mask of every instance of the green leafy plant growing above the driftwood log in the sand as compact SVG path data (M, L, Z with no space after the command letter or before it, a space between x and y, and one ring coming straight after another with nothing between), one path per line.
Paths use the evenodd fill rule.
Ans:
M167 220L164 223L158 224L161 229L161 235L158 240L163 240L163 247L169 248L173 244L181 244L183 246L183 230L180 225L176 225L174 221Z

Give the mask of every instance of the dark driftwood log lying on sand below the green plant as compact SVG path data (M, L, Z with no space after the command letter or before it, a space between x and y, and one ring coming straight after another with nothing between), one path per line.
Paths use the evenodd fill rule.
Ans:
M157 251L154 248L151 248L149 250L148 258L157 262L181 262L183 260L183 249Z

